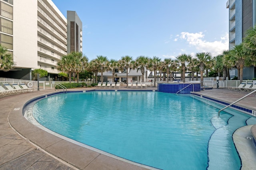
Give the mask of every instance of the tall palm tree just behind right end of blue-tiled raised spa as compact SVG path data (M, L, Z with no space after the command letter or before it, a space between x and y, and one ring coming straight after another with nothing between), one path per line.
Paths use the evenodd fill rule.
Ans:
M200 69L201 86L204 86L204 70L212 64L212 55L208 52L196 53Z

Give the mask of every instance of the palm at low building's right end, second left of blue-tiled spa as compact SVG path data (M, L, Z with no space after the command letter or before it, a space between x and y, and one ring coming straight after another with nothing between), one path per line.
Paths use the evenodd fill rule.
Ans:
M138 70L140 70L140 72L142 74L142 82L144 82L144 74L145 74L146 70L148 69L148 62L149 62L149 58L145 57L145 56L139 56L134 61L133 68L136 68L137 72L138 72Z

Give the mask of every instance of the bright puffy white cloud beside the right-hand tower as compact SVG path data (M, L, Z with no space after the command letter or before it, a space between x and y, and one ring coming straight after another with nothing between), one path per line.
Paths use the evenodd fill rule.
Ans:
M180 39L184 39L187 43L196 47L197 52L210 52L212 56L216 56L221 54L223 51L228 50L228 33L226 35L220 37L220 41L205 41L204 34L202 32L199 33L189 33L182 32L179 36Z

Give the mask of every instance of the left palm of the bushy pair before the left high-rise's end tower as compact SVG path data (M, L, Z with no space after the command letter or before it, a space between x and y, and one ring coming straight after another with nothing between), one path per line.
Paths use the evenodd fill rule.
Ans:
M58 61L58 70L61 70L63 72L68 72L69 75L69 83L71 83L71 74L74 72L74 68L76 66L76 59L73 55L68 54L64 55L60 61Z

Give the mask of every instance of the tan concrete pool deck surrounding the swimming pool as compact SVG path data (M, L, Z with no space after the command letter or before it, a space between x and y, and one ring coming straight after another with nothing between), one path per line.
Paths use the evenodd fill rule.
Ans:
M90 90L94 88L68 89L69 91ZM126 88L122 87L121 90ZM103 89L104 90L104 89ZM128 89L137 90L137 89ZM139 89L141 90L141 89ZM144 90L144 89L143 89ZM145 90L157 90L147 88ZM22 115L24 104L35 97L50 94L54 90L40 90L0 98L0 170L6 169L81 169L81 170L146 170L147 166L131 164L123 159L116 159L90 149L75 145L56 137L32 125ZM212 89L197 92L226 102L234 102L248 92L228 89ZM256 110L256 93L238 102L239 105ZM216 113L217 114L217 113ZM256 167L256 150L252 141L251 126L238 129L233 139L242 158L242 169ZM254 128L256 129L256 128ZM255 130L256 133L256 130ZM242 150L240 152L240 149ZM242 155L248 162L244 162ZM251 157L251 155L254 155Z

